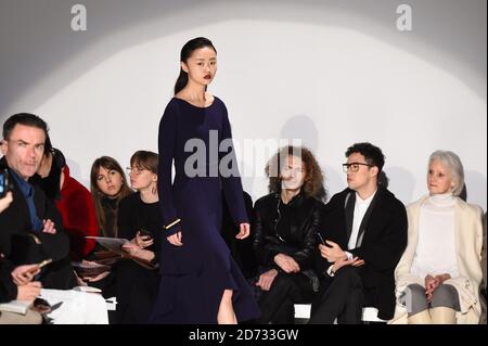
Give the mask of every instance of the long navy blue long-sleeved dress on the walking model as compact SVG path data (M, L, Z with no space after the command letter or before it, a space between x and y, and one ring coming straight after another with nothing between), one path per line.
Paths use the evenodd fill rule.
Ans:
M233 291L239 321L259 317L251 289L220 235L222 190L234 222L248 222L239 171L229 176L219 169L219 165L237 169L226 105L218 98L208 107L174 98L159 123L158 138L158 191L166 230L151 322L217 323L224 290ZM179 231L183 246L171 245L166 236Z

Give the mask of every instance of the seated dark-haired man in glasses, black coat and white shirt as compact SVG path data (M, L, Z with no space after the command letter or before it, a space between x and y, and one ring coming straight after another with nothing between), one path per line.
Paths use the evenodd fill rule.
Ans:
M388 320L395 311L394 270L407 246L403 204L378 176L380 148L357 143L346 152L348 188L325 206L318 271L324 274L309 323L360 323L362 307Z

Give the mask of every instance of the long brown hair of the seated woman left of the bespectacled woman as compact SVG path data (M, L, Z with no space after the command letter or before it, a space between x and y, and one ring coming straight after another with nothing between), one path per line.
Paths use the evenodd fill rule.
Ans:
M99 185L97 184L97 178L99 176L100 167L105 168L106 170L115 170L118 171L118 174L123 178L123 184L120 187L120 191L118 195L115 197L117 209L115 212L115 222L114 222L114 229L107 230L106 229L106 216L105 212L103 210L102 206L102 197L104 196L104 193L99 189ZM124 170L120 167L120 164L113 157L110 156L102 156L94 161L93 165L91 166L91 172L90 172L90 187L91 187L91 195L93 197L93 203L95 206L97 212L97 220L99 221L99 226L102 230L103 236L112 236L117 238L118 236L118 229L117 229L117 216L118 216L118 203L121 198L132 193L132 190L130 190L129 185L127 184L126 175L124 174Z

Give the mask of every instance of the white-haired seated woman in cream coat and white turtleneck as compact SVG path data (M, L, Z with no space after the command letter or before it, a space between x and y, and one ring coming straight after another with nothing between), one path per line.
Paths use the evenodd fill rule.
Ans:
M395 270L398 303L391 322L478 323L481 214L458 197L463 182L457 154L431 155L429 193L407 208L408 245Z

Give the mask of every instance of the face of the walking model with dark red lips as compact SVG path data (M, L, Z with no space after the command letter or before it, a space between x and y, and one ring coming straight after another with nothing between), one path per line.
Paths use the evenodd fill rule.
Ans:
M217 53L209 47L196 49L181 68L195 84L208 86L217 73Z

